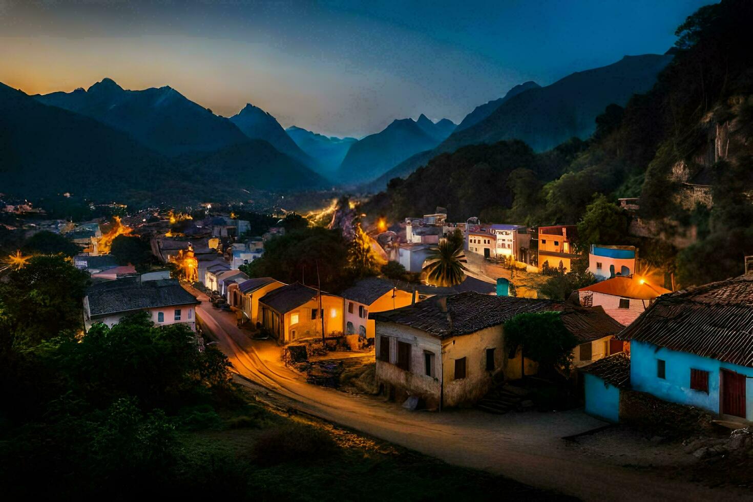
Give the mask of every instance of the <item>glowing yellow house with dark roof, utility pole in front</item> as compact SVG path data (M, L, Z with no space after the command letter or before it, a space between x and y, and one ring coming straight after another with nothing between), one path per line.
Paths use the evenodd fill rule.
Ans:
M259 299L261 324L281 342L343 333L343 298L300 282L276 288Z

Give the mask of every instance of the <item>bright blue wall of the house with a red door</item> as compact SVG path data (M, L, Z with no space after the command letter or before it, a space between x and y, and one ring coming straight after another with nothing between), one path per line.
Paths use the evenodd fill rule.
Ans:
M657 376L657 359L665 361L666 379ZM691 368L709 372L709 393L691 389ZM725 363L710 357L672 351L645 342L630 342L630 385L672 403L719 412L721 369L751 377L745 383L746 419L753 421L753 368Z

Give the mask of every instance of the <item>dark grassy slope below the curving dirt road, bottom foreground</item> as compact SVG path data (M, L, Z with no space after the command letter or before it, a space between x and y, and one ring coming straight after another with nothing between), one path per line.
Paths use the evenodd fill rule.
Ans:
M252 409L249 405L247 412ZM325 421L264 409L252 415L226 416L220 428L181 435L189 464L185 472L192 473L182 488L193 495L221 488L224 497L318 502L566 498L445 464ZM250 427L241 425L244 420Z

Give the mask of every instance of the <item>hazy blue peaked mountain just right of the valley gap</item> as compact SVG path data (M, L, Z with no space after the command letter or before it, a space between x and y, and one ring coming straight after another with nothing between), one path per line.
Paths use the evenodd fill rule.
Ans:
M337 179L343 184L358 184L377 178L413 154L436 147L454 129L450 120L433 123L424 114L417 121L394 120L382 131L352 145L337 170Z

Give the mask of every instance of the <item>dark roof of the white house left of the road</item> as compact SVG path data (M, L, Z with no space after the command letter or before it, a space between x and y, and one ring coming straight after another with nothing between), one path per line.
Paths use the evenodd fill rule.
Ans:
M102 282L88 289L87 298L91 317L199 303L194 295L183 289L178 279L142 282L138 278L123 278Z

